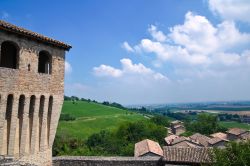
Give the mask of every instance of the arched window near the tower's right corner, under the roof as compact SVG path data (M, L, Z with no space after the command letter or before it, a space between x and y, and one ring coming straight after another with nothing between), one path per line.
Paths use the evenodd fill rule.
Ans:
M51 74L51 55L47 51L40 51L38 57L38 72Z

